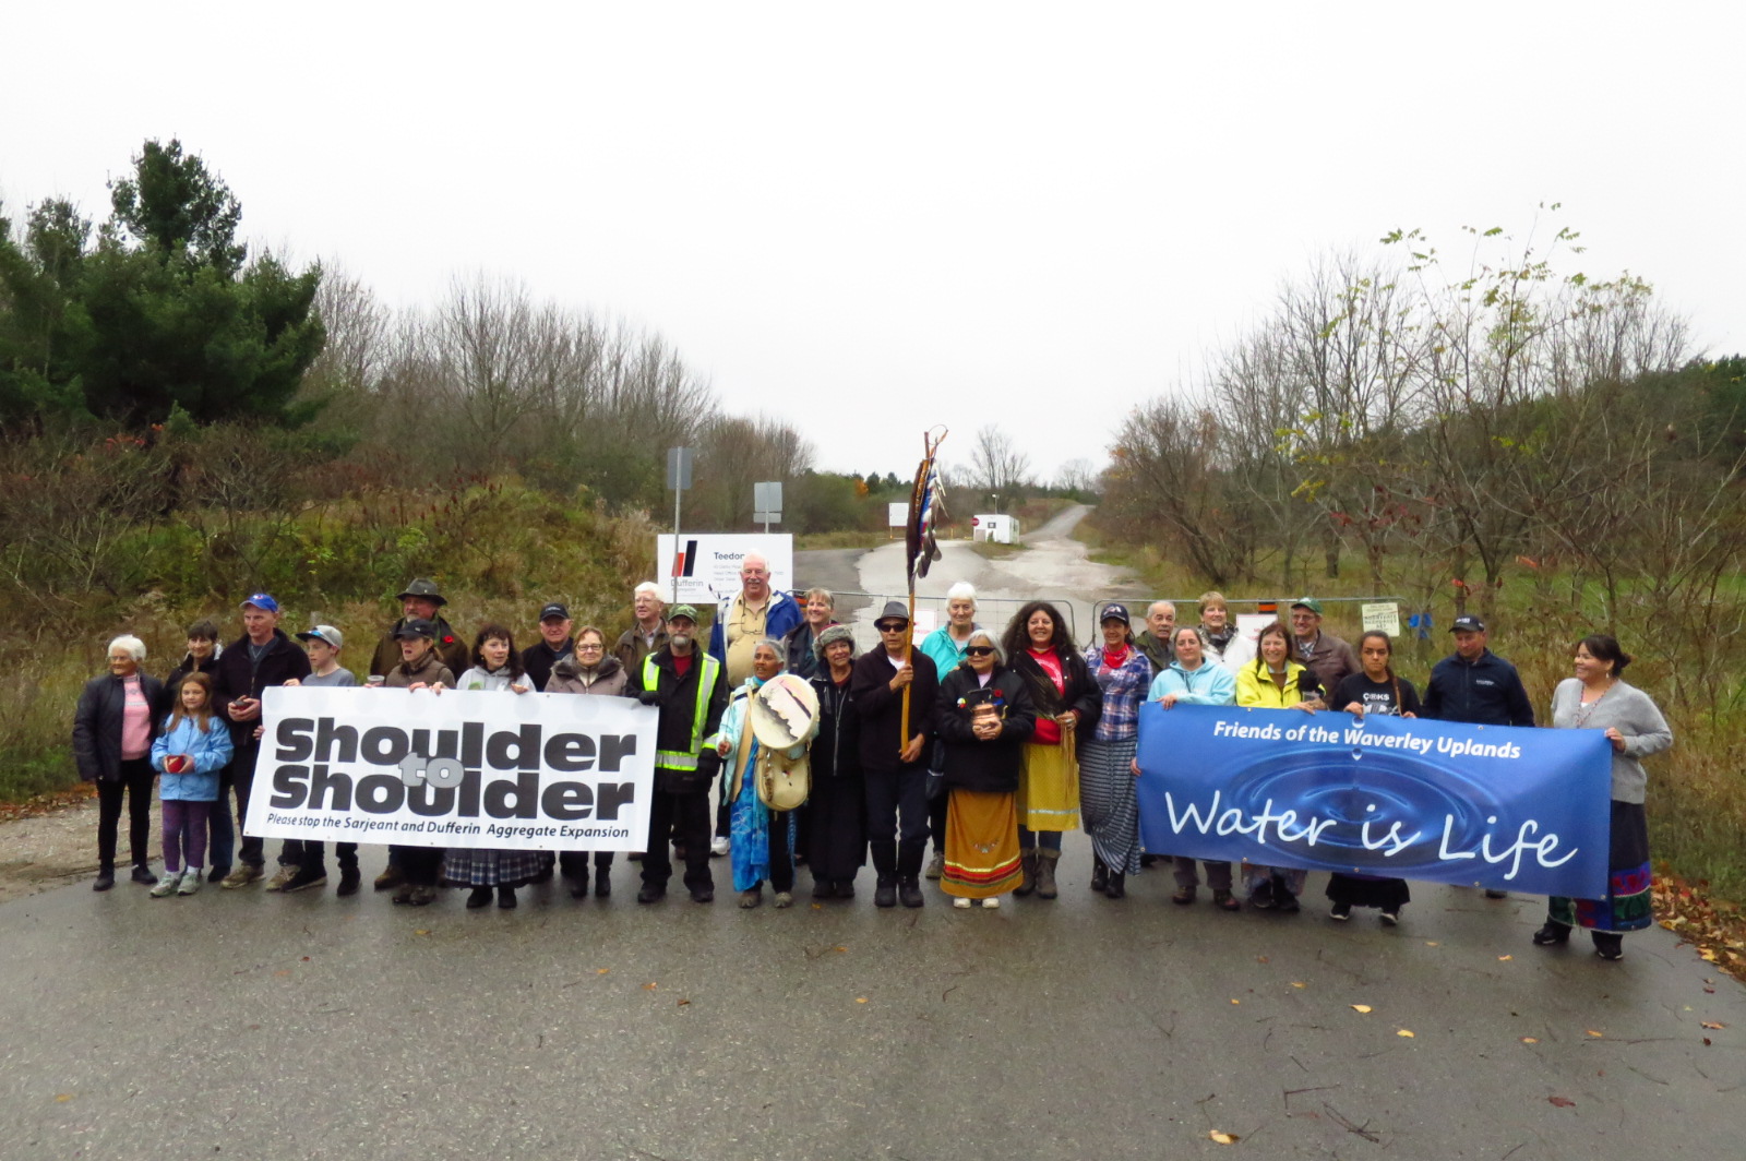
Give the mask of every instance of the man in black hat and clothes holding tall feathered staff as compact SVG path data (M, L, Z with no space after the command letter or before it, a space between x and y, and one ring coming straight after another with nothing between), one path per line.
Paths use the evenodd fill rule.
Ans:
M910 611L889 601L873 622L882 649L856 660L849 695L861 711L861 772L868 787L868 850L878 882L873 904L922 906L927 854L927 745L934 737L939 676L932 658L910 648ZM910 723L903 723L903 690Z

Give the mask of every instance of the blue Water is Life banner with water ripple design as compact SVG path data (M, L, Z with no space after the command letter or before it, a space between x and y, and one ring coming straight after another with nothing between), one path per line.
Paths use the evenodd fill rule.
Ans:
M1601 730L1145 702L1138 763L1147 850L1606 894Z

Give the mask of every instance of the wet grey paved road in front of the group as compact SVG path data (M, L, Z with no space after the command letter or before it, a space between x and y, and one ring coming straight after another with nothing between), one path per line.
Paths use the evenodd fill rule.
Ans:
M1531 946L1531 897L1416 885L1386 931L1156 873L1112 903L1090 862L1069 836L1062 897L995 913L639 908L623 864L508 913L17 899L0 1156L1739 1156L1746 988L1664 931L1601 964Z

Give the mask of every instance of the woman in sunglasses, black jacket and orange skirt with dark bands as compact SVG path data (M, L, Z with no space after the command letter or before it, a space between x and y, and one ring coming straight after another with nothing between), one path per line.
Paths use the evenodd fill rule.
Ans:
M1020 885L1016 791L1035 723L1027 683L1000 663L986 630L971 630L964 662L939 683L934 705L948 794L939 887L955 908L997 908Z

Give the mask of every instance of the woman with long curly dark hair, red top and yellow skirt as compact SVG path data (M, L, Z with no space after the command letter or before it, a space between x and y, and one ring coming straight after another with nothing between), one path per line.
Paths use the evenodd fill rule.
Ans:
M1018 780L1018 845L1023 880L1014 894L1053 899L1062 833L1079 829L1079 732L1096 728L1103 693L1067 635L1067 622L1048 601L1018 609L1000 641L1007 663L1037 707Z

